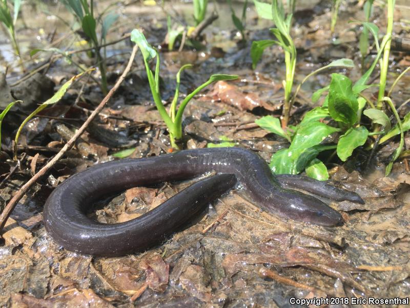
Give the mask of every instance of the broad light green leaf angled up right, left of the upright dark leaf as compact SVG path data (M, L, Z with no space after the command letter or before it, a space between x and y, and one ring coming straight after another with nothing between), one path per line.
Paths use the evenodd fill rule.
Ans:
M311 122L303 125L298 129L289 150L298 155L304 149L318 145L336 131L339 131L339 129L321 122Z

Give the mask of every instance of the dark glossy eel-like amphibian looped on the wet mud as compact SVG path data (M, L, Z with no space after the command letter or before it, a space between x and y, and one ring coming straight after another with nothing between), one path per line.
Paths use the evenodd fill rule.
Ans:
M210 171L218 175L198 181L133 220L108 225L85 214L94 201L105 195L135 186L186 180ZM237 181L256 205L270 213L326 226L342 222L338 211L317 198L282 188L256 153L241 148L213 148L113 161L79 172L52 192L44 208L44 224L53 240L71 251L102 256L144 251L192 220ZM326 185L317 182L303 182L304 188L303 183L296 186L314 190L315 183ZM286 184L292 185L292 178ZM345 193L336 189L333 195L363 202L356 194Z

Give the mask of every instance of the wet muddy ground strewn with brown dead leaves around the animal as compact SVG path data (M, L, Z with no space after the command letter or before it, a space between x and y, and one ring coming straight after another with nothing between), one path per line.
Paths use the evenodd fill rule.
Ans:
M375 2L376 3L376 2ZM396 1L395 35L409 38L410 7ZM240 14L243 2L233 2ZM298 49L295 84L314 69L341 57L360 63L358 33L351 20L363 20L355 1L340 8L336 35L330 32L330 6L326 1L298 2L293 36ZM176 85L175 74L184 64L194 64L181 74L180 93L193 90L214 73L237 74L237 81L218 82L197 95L183 119L185 148L200 148L229 141L256 151L269 161L272 153L289 146L255 125L263 115L279 117L282 108L283 54L268 49L252 70L252 41L271 38L266 20L257 18L251 3L245 37L235 30L225 2L209 4L219 18L203 31L202 49L186 46L168 51L166 13L192 23L192 3L166 2L164 9L152 2L100 1L99 12L111 7L119 18L107 42L118 40L133 28L144 30L160 50L161 94L169 106ZM72 62L51 53L28 55L34 48L74 50L81 42L67 28L72 16L59 2L33 2L23 6L24 23L17 37L27 52L25 70L15 61L7 37L0 34L0 63L8 66L0 76L0 109L10 98L24 100L5 119L0 161L0 210L15 191L59 151L104 98L90 78L75 83L58 104L33 118L20 137L18 159L12 160L12 140L19 123L77 73ZM376 4L374 22L385 29L385 10ZM245 40L243 40L245 38ZM177 46L178 48L179 46ZM83 46L84 48L84 46ZM127 38L106 48L108 81L112 86L124 69L132 46ZM375 55L363 62L368 67ZM92 65L86 53L72 60ZM410 51L393 51L388 82L410 65ZM44 67L42 67L44 66ZM36 68L41 68L34 73ZM344 72L359 78L361 66ZM291 114L296 124L312 103L311 93L330 82L330 71L303 84ZM99 78L98 72L93 75ZM375 80L378 72L374 73ZM404 76L392 94L400 105L410 91ZM372 95L372 89L366 90ZM375 94L377 96L377 94ZM400 110L404 115L410 106ZM109 105L59 160L47 177L20 200L6 224L0 242L0 306L5 307L291 307L290 298L405 298L410 294L410 172L407 159L398 160L391 175L384 168L398 145L392 139L375 155L358 148L343 163L332 151L322 153L333 185L357 192L365 204L324 200L342 213L345 223L321 227L285 220L262 211L257 204L231 190L215 200L189 225L167 241L144 253L117 258L85 256L66 251L47 235L42 210L50 192L69 176L89 166L118 159L113 154L131 149L128 157L158 156L169 152L170 140L151 98L141 56ZM405 134L405 146L410 135ZM6 178L8 175L10 175ZM95 204L91 217L102 223L124 222L147 213L176 192L183 183L135 187L119 191ZM329 305L332 307L366 305ZM391 305L397 306L397 305ZM403 305L404 307L404 305Z

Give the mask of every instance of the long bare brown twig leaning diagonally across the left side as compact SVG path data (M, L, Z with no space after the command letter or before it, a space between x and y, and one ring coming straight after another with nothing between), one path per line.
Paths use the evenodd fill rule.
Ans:
M3 213L0 215L0 232L4 228L4 225L6 224L6 221L8 217L10 216L11 212L13 211L14 207L16 206L17 202L24 196L27 190L36 183L41 177L43 177L51 167L54 166L54 164L65 155L65 153L71 149L71 147L75 144L77 139L83 134L87 128L87 126L94 120L94 118L97 116L97 114L103 110L105 105L108 103L108 101L111 99L112 95L114 95L115 91L118 89L122 81L126 78L128 72L131 69L132 63L134 61L135 54L138 50L138 47L135 45L134 48L132 49L131 57L130 60L128 61L127 67L125 68L124 72L122 75L118 78L117 82L115 85L112 87L112 89L108 92L107 96L99 103L97 108L93 111L93 113L90 114L90 117L84 122L84 124L76 131L74 136L65 144L63 148L57 153L56 156L54 156L43 168L41 168L26 184L24 184L13 196L13 198L9 201L9 203L6 205L6 207L3 210Z

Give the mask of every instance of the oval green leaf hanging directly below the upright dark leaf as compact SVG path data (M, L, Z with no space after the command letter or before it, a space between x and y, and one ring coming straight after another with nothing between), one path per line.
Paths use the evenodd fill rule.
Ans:
M345 162L352 155L355 148L366 142L367 135L368 131L364 126L347 130L337 143L337 156Z

